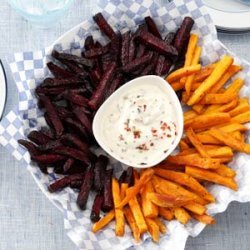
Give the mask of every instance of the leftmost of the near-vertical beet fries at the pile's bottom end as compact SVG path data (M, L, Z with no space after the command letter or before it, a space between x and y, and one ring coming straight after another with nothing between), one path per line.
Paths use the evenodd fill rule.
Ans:
M81 189L78 194L77 201L76 201L79 208L82 210L86 209L89 192L93 185L93 178L94 178L94 171L93 171L93 167L91 166L89 169L87 169L83 177L82 186L81 186Z

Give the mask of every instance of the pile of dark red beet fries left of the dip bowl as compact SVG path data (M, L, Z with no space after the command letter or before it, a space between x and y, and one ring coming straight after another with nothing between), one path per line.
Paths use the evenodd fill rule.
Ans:
M165 76L183 63L193 20L186 17L175 33L165 39L151 17L145 17L135 31L115 32L101 13L93 17L108 41L101 44L89 35L81 55L52 52L47 63L51 74L36 88L38 106L44 109L49 128L31 131L30 141L19 140L44 174L52 167L64 177L49 185L50 192L65 187L79 190L77 204L86 208L90 191L96 192L90 219L100 219L100 210L113 209L112 175L109 159L96 156L92 120L102 103L128 80L155 74ZM93 147L94 146L94 147ZM120 177L134 184L133 168Z

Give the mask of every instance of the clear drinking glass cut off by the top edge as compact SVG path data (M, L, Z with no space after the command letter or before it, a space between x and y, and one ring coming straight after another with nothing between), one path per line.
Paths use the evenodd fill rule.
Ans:
M69 9L74 0L8 0L25 19L41 28L51 27Z

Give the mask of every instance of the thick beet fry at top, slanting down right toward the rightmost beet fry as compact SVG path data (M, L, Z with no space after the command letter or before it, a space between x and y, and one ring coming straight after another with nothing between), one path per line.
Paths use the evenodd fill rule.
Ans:
M163 40L147 31L140 32L137 40L160 54L174 57L178 56L178 51L174 46L166 44Z

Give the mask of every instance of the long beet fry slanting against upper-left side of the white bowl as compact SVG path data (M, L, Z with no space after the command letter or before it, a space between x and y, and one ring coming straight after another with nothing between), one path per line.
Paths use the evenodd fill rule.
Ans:
M90 101L88 102L88 104L92 110L97 110L100 107L100 105L102 104L104 97L105 97L105 89L109 88L110 83L111 83L113 76L115 74L115 70L116 70L116 64L112 63L112 64L110 64L109 69L106 72L104 72L104 75L103 75L97 89L95 90L95 92L91 96Z

